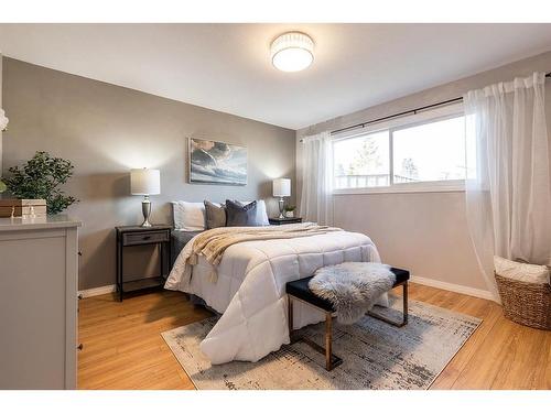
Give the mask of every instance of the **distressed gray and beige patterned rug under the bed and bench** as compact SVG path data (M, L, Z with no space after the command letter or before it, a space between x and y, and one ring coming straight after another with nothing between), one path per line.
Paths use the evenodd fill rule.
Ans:
M400 305L376 307L399 319ZM162 334L199 390L250 389L428 389L475 332L482 319L410 301L409 324L397 328L372 317L345 326L334 323L334 352L344 359L333 371L324 357L304 343L283 346L258 362L212 366L199 343L216 317ZM324 324L300 330L324 343Z

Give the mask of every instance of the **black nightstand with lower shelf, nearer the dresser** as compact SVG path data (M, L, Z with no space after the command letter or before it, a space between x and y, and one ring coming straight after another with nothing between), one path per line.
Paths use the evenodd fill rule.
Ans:
M119 301L122 301L125 293L162 286L164 284L164 276L168 275L170 269L172 227L170 225L154 225L152 227L125 226L116 227L115 229L117 231L117 290L119 292ZM125 281L125 249L144 244L155 244L160 249L159 275Z

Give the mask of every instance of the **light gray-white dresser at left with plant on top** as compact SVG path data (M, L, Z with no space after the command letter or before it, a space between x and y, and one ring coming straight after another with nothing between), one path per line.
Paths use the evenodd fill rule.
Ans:
M79 226L0 218L0 389L76 389Z

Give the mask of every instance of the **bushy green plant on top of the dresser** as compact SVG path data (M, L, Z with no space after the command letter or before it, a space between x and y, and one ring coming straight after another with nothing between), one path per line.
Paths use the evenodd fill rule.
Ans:
M71 161L39 151L24 165L10 167L11 175L3 181L18 199L45 199L47 214L54 215L78 200L61 189L73 170Z

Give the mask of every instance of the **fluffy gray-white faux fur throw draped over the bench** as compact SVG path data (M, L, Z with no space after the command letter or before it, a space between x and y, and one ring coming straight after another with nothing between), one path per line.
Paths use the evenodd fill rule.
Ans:
M337 322L359 320L381 294L390 291L396 275L390 267L377 262L343 262L323 267L309 282L310 290L328 300L336 309Z

